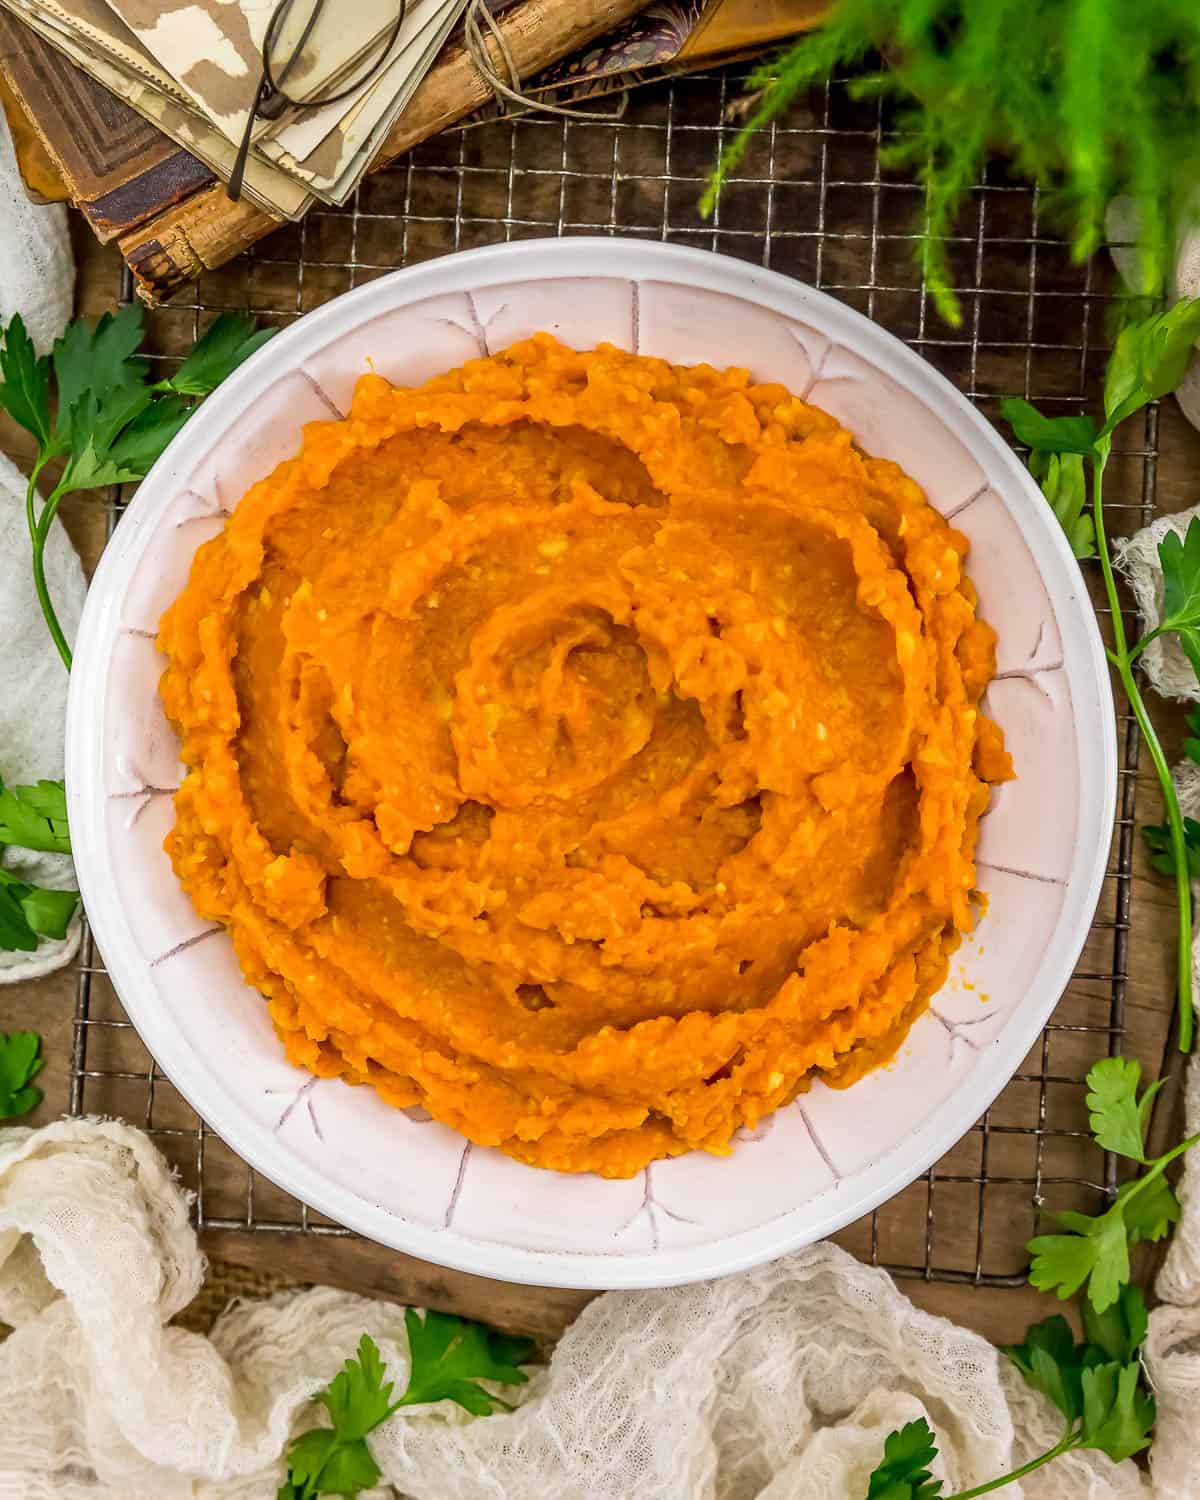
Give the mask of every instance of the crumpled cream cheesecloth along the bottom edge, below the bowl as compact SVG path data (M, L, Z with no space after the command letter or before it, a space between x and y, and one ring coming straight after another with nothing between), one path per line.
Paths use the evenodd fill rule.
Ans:
M0 1134L0 1318L16 1329L0 1344L3 1500L273 1500L292 1422L321 1419L308 1398L360 1334L402 1389L399 1308L318 1288L234 1304L210 1338L166 1328L201 1278L184 1197L140 1131ZM1200 1354L1173 1352L1174 1317L1152 1318L1154 1454L1178 1476L1158 1494L1182 1500L1200 1470L1186 1401L1168 1398ZM372 1452L412 1500L860 1500L886 1432L922 1413L948 1491L1059 1436L986 1340L832 1245L694 1287L606 1293L519 1400L477 1419L412 1408ZM1008 1492L1148 1491L1132 1462L1077 1454Z

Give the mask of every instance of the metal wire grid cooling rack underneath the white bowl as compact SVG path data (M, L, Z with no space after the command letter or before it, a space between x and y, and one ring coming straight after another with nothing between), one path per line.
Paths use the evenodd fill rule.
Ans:
M546 234L621 232L705 246L794 274L908 340L992 417L1023 393L1052 411L1095 402L1107 272L1074 266L1036 189L988 170L948 242L963 321L933 310L914 264L921 189L880 168L886 122L837 86L762 130L711 220L698 200L736 126L736 75L634 93L610 124L524 117L450 132L374 174L340 210L288 225L148 316L164 363L220 309L285 324L398 266ZM129 282L122 296L130 296ZM1112 525L1154 513L1156 412L1113 464ZM112 522L120 513L114 504ZM922 1179L842 1242L906 1276L1010 1286L1044 1196L1095 1208L1116 1164L1090 1143L1083 1077L1125 1035L1137 730L1119 717L1120 790L1108 876L1071 987L1022 1071ZM202 1004L201 996L190 998ZM250 1172L154 1068L90 938L78 968L72 1113L142 1125L195 1197L200 1228L345 1234Z

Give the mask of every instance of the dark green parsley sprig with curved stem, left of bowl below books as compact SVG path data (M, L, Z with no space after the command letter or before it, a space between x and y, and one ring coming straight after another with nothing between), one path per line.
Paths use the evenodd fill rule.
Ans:
M224 312L166 380L150 382L141 308L122 308L99 322L72 322L50 354L38 356L20 314L0 330L0 406L38 440L26 490L33 546L33 586L63 664L70 646L45 574L50 528L64 495L144 478L174 438L195 400L207 396L264 344L274 328ZM51 402L51 387L56 400ZM62 477L39 504L38 478L54 459Z

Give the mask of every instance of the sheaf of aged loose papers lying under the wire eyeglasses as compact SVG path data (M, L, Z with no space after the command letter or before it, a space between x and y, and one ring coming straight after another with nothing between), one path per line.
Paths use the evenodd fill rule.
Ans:
M228 180L249 129L246 196L297 219L357 188L465 0L3 3L218 177ZM258 114L264 57L278 74L296 58L280 86L288 99L330 102Z

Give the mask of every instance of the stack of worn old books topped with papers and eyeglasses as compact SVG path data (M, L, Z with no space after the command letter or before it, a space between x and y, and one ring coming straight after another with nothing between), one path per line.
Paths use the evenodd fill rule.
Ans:
M0 0L0 93L30 186L45 189L48 153L57 195L118 240L153 302L312 204L345 202L366 171L489 104L468 3ZM752 56L824 4L488 0L483 34L495 74L579 102ZM264 58L286 96L266 110ZM36 150L21 152L30 134Z

